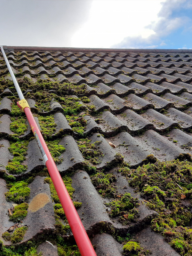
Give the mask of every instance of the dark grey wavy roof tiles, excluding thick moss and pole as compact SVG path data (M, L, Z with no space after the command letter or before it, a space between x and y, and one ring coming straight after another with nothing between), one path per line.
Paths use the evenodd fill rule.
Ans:
M85 113L87 121L83 133L76 132L73 124L66 119L66 112L62 104L54 99L50 102L50 109L44 111L36 105L36 98L28 100L33 113L39 116L53 115L56 124L52 134L53 139L61 138L60 145L66 150L61 153L64 161L57 164L61 175L76 172L72 176L73 194L76 201L82 202L77 210L92 244L96 246L97 255L122 255L122 245L112 236L112 230L119 236L132 232L138 235L143 246L148 246L151 255L179 255L163 237L151 232L150 220L156 212L140 204L140 217L136 223L122 225L113 218L109 218L105 201L98 194L92 184L85 168L85 159L78 143L84 143L82 138L91 140L91 143L101 141L99 150L102 157L96 167L97 170L107 170L116 175L116 186L119 193L129 192L134 197L133 188L129 187L124 176L118 174L114 167L117 166L117 153L124 156L124 161L131 168L142 165L147 156L153 154L160 161L176 159L183 154L188 159L191 152L192 129L192 51L187 50L118 50L118 49L36 49L30 47L8 47L6 53L15 76L19 79L30 78L34 83L39 79L74 85L85 85L83 93L79 94L71 90L71 97L77 98L82 104L79 114ZM0 76L11 79L8 69L0 55ZM20 81L20 80L19 80ZM22 84L20 83L21 88ZM30 92L30 91L27 91ZM27 94L24 92L24 95ZM53 89L54 92L54 89ZM12 102L14 90L4 88L1 93L0 104L0 135L1 164L7 166L12 153L8 150L10 141L14 141L14 132L10 130L13 122ZM17 97L17 95L15 94ZM88 101L82 101L82 97L88 97ZM38 97L38 95L36 96ZM73 115L72 115L73 116ZM39 122L40 124L40 122ZM41 124L40 124L41 126ZM103 136L100 136L103 135ZM30 127L20 135L20 140L28 140L32 137ZM81 140L80 140L81 139ZM50 138L47 137L47 140ZM80 141L80 142L79 142ZM111 147L108 142L116 145ZM94 144L94 145L96 145ZM126 145L126 147L125 147ZM187 145L187 146L185 146ZM24 172L14 174L16 180L29 178L33 173L38 173L44 168L41 154L35 140L30 140L27 147L27 157L24 164L27 169ZM88 160L89 161L89 160ZM109 167L110 166L110 167ZM4 169L3 167L1 167ZM8 170L6 172L9 174ZM4 203L4 209L0 209L5 221L2 222L1 234L5 227L11 226L7 209L11 203L7 202L4 193L7 191L6 182L0 180L3 192L0 195L0 203ZM37 190L43 191L50 198L48 184L44 178L37 176L28 185L31 188L30 200L37 194ZM125 188L125 189L123 189ZM143 202L143 199L139 197ZM28 230L22 242L42 238L42 232L48 240L54 232L55 219L51 200L42 208L42 212L30 212L23 221L28 225ZM40 211L40 210L39 210ZM36 216L34 217L34 214ZM35 227L35 228L34 228ZM101 230L107 233L102 233ZM139 230L139 231L138 231ZM34 238L35 237L35 238ZM146 240L150 243L146 243ZM72 241L73 242L73 241ZM9 241L4 241L9 245ZM157 243L154 246L154 243ZM147 245L146 245L147 244ZM46 249L47 244L41 244L44 255L52 246ZM159 248L159 249L157 249ZM57 255L57 252L50 252ZM54 254L53 254L54 253ZM168 253L168 254L166 254Z

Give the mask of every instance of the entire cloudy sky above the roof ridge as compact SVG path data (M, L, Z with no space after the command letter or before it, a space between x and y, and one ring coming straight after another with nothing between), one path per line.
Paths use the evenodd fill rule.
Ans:
M0 4L0 45L192 48L192 0L0 0Z

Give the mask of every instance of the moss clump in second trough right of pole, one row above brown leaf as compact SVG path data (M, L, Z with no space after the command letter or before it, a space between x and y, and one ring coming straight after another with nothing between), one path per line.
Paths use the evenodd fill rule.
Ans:
M66 119L69 123L69 125L72 127L72 130L74 132L77 132L81 135L83 135L85 129L87 120L83 118L83 116L66 116Z

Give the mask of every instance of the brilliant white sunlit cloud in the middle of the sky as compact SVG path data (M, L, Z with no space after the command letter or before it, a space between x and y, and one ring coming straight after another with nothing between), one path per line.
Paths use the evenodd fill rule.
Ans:
M94 0L88 20L72 36L72 47L109 48L126 36L153 35L147 25L158 19L163 1Z

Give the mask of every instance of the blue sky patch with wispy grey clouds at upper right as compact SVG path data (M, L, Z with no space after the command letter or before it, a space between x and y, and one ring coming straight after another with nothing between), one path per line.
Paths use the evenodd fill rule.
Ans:
M191 19L188 16L177 14L175 17L174 12L179 12L182 8L192 8L191 2L186 0L172 0L161 2L161 9L157 14L157 19L153 20L145 28L153 31L153 34L147 38L143 36L127 36L121 43L115 44L112 48L153 48L153 46L165 46L165 38L174 31L182 28L187 29L187 25L191 24ZM178 17L179 15L179 17ZM188 28L189 29L189 28Z

